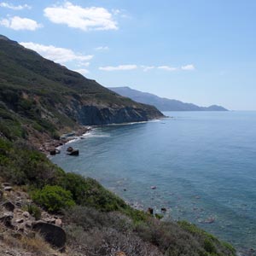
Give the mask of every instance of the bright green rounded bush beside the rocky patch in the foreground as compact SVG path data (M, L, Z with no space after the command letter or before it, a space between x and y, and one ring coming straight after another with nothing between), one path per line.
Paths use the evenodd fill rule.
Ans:
M60 212L62 208L75 205L71 192L59 186L47 185L44 189L36 190L32 199L49 212Z

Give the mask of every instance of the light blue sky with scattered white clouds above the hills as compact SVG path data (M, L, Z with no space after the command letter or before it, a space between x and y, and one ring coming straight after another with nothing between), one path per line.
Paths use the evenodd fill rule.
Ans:
M255 14L254 0L0 0L0 34L106 87L256 110Z

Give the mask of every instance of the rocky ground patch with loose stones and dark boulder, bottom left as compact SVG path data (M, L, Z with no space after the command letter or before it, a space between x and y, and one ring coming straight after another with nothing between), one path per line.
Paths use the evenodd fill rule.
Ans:
M3 183L3 188L5 185L9 183ZM32 201L25 192L12 189L3 192L3 195L4 200L0 199L0 228L4 227L17 239L22 236L34 237L38 232L52 247L59 250L65 248L67 238L66 232L61 228L61 216L50 215L40 209L40 219L37 221L32 212L26 211Z

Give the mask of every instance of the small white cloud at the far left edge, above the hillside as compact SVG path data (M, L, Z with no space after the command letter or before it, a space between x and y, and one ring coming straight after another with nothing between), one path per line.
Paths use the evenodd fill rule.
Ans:
M0 20L0 25L14 29L14 30L31 30L31 31L34 31L40 27L43 27L43 25L39 24L36 20L20 18L19 16L2 19Z

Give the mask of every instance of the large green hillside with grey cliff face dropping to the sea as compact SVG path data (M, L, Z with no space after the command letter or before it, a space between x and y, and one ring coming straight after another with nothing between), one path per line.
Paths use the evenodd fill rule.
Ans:
M163 116L31 49L0 36L0 127L8 137L58 137L78 125L145 121Z

